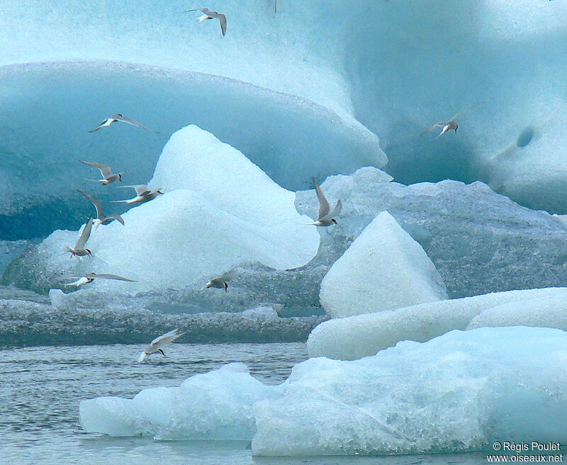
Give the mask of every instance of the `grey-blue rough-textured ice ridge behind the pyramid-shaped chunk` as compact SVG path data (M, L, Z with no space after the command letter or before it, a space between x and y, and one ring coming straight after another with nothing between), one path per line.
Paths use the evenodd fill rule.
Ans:
M322 183L327 198L342 199L343 207L339 225L321 234L318 263L332 265L386 210L423 247L449 298L567 282L567 225L559 218L519 206L481 182L390 180L366 167ZM297 192L296 208L316 215L315 191Z

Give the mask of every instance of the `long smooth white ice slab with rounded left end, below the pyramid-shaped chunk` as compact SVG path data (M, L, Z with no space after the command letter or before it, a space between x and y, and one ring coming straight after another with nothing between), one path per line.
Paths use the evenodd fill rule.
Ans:
M507 304L507 310L514 306L521 309L525 301L533 303L534 299L545 301L549 298L555 299L554 301L567 301L567 288L490 293L423 303L387 312L337 318L315 327L307 342L308 352L310 357L359 359L392 347L399 341L425 342L451 330L464 330L473 318L490 308ZM529 321L527 318L522 318L523 320ZM508 321L513 325L517 320L508 318ZM541 318L540 321L544 323L546 320ZM558 319L551 318L547 321L554 327L565 326L565 323Z

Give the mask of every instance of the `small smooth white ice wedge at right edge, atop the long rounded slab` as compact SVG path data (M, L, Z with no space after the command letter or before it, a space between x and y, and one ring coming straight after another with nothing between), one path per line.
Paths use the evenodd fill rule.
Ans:
M504 303L488 308L477 315L467 329L485 326L539 326L567 330L567 296L561 294L549 298L532 298L525 301Z

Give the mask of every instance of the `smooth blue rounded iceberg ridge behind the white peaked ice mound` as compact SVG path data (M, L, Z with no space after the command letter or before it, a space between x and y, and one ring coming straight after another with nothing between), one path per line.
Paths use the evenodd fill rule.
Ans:
M249 82L179 69L108 61L0 67L0 103L6 109L0 115L0 239L78 228L92 207L77 189L103 204L116 199L113 186L86 181L99 172L78 159L128 170L125 184L138 184L152 177L169 135L188 124L215 134L294 191L310 186L312 176L388 161L376 135L352 116ZM117 112L159 134L128 125L89 133ZM123 209L112 204L105 211Z

